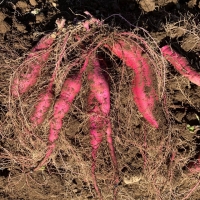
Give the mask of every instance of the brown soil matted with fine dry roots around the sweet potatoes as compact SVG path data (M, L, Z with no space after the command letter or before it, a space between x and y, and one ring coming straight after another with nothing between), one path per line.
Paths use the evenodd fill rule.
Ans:
M56 29L56 19L63 17L66 26L76 27L77 22L85 20L86 10L97 19L106 19L104 23L112 27L107 30L134 31L152 47L152 53L147 52L152 56L150 59L159 58L156 67L152 67L159 96L154 112L159 121L158 129L145 121L134 104L132 71L119 59L112 57L115 62L108 59L111 66L106 70L111 88L110 118L120 182L113 183L114 169L104 138L96 164L103 199L113 199L115 188L118 189L117 199L123 200L200 199L199 172L191 173L187 168L198 158L200 150L200 87L176 72L157 48L171 45L200 72L199 0L2 0L0 199L97 199L91 176L86 79L63 120L48 164L34 171L47 149L48 119L53 104L44 124L34 131L28 116L34 110L37 95L48 84L49 74L54 69L51 67L55 63L53 58L59 53L64 34L58 39L55 55L48 61L48 68L41 72L37 86L17 100L10 95L16 69L39 39ZM98 35L90 37L98 38ZM81 52L73 56L77 58ZM65 65L62 70L66 70ZM62 74L58 74L55 99L65 78ZM33 133L27 133L27 129Z

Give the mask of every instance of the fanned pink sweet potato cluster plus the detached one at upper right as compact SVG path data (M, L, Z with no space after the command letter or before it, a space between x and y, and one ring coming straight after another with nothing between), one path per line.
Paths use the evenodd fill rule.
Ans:
M86 12L89 15L88 12ZM14 98L19 98L23 94L27 93L30 88L34 87L40 76L42 67L46 65L49 55L52 52L52 44L56 41L56 38L60 34L65 34L63 43L67 43L69 36L68 32L63 32L65 20L57 20L57 31L55 33L46 35L38 44L30 51L26 60L20 67L27 67L27 73L22 73L13 79L11 85L11 94ZM93 18L90 15L90 19L81 22L85 32L90 32L90 26L96 25L98 27L103 26L103 23ZM103 37L103 36L102 36ZM112 141L112 126L109 117L110 114L110 87L109 81L104 74L107 68L106 59L98 54L98 49L105 49L109 52L109 55L118 57L127 67L133 70L134 77L132 80L132 93L133 100L143 116L143 118L153 127L159 128L159 119L154 114L156 105L159 102L159 95L157 94L157 85L153 83L153 76L155 71L152 70L151 65L155 65L149 56L144 56L146 43L142 41L143 38L136 36L131 32L113 32L112 42L110 37L103 37L102 40L93 47L93 49L87 50L85 44L82 45L82 49L87 52L86 59L81 64L81 69L73 76L68 77L62 85L62 89L59 98L54 103L53 113L51 119L49 119L49 137L48 137L48 149L43 160L38 163L35 171L44 166L52 152L55 149L55 141L59 137L59 132L62 129L62 121L65 115L69 112L69 109L81 90L82 75L87 71L87 81L89 84L88 94L88 126L91 135L91 147L92 147L92 176L94 181L94 187L98 194L98 197L102 199L101 192L97 186L95 177L95 166L97 150L103 140L104 135L107 137L108 146L110 149L110 155L112 163L115 169L115 184L119 183L117 158L115 155L114 145ZM75 41L81 40L79 35L74 38ZM92 42L92 41L91 41ZM56 71L60 67L65 46L63 47L60 57L56 63L52 78L49 80L49 85L44 93L38 96L35 110L30 117L32 128L41 125L46 117L46 112L52 105L53 99L53 84L56 77ZM194 71L187 60L176 53L170 46L166 45L160 49L164 58L169 61L175 69L188 78L194 84L200 86L200 74ZM77 62L75 62L77 63ZM71 68L75 67L72 66ZM19 68L20 69L20 68ZM68 69L70 70L70 68ZM116 187L115 187L116 188ZM116 189L114 191L116 198Z

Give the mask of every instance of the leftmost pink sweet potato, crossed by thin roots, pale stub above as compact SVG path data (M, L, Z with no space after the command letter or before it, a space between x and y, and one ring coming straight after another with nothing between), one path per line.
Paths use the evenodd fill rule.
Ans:
M65 20L57 20L57 26L61 29ZM25 73L19 72L12 83L11 94L15 97L27 92L36 82L41 68L47 62L51 53L50 46L53 44L58 33L44 36L38 44L31 50L27 59L21 64L18 70L26 70Z

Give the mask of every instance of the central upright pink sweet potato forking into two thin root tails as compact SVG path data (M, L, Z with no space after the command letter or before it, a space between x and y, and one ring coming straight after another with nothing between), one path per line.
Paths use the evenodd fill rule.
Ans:
M117 159L112 141L112 128L109 119L110 112L110 90L109 85L103 76L98 58L91 58L93 68L88 73L90 83L90 93L88 96L89 111L89 130L92 146L92 177L95 190L101 199L101 192L97 186L95 169L98 148L102 142L103 136L107 135L107 142L110 149L111 159L116 170L115 183L118 184Z

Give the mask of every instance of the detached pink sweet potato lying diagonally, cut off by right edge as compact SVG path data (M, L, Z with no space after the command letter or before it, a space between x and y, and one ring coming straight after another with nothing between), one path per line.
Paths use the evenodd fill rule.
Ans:
M192 69L186 58L175 52L169 45L162 47L161 52L181 75L200 86L200 73Z

